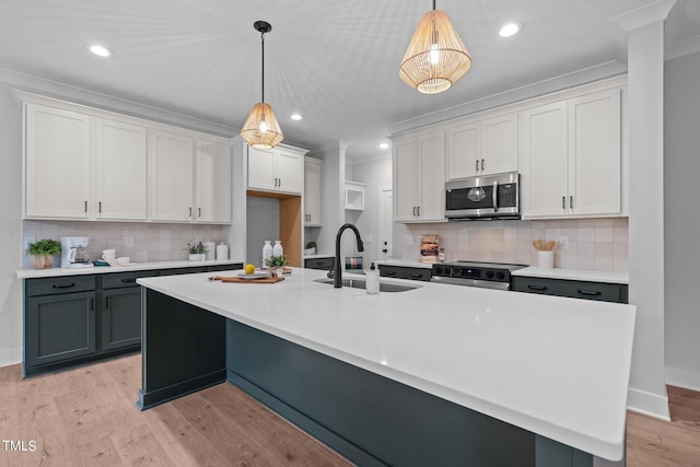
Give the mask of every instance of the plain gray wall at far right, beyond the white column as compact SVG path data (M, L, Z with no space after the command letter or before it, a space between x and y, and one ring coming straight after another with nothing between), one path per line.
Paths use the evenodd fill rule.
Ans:
M700 54L666 61L664 86L666 382L698 390L700 390L699 83Z

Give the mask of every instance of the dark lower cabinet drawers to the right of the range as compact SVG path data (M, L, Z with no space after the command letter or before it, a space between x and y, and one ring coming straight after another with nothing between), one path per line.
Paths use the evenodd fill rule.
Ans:
M621 283L514 276L511 278L511 290L600 302L628 303L628 285Z

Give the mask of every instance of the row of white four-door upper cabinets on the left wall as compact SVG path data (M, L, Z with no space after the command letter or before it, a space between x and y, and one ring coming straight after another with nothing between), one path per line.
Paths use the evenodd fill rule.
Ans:
M231 222L228 139L44 101L24 103L24 219Z

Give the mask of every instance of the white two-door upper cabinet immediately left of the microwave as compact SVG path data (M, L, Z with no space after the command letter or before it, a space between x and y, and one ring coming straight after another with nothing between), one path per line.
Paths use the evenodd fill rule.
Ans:
M445 131L395 140L394 220L445 220Z

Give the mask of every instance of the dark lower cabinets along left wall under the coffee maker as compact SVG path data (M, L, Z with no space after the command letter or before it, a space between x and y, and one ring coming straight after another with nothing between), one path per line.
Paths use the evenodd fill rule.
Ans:
M242 264L24 280L24 376L141 347L138 278L241 269Z

